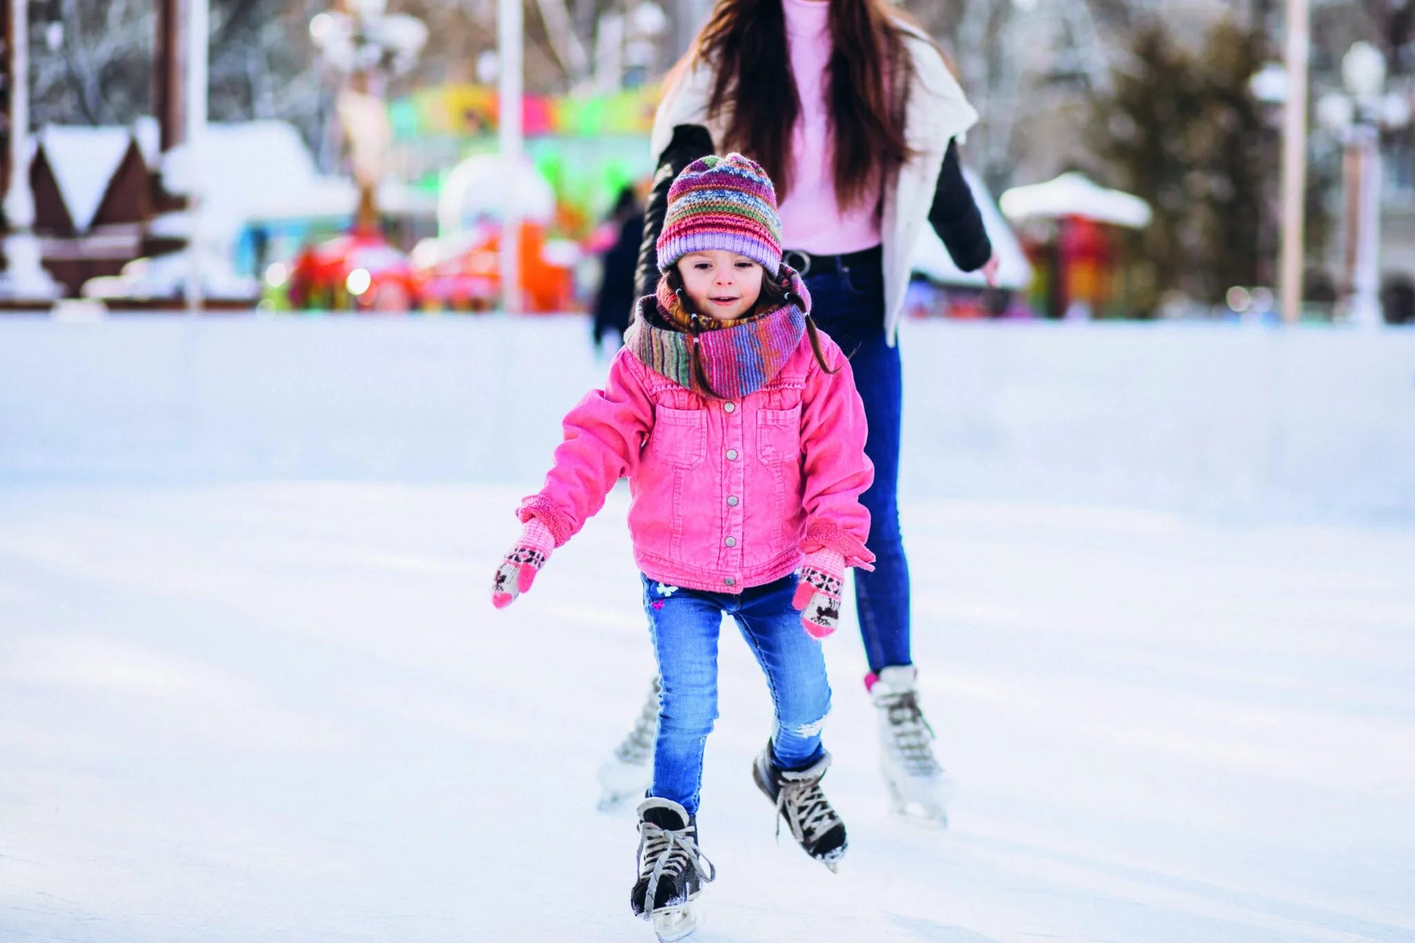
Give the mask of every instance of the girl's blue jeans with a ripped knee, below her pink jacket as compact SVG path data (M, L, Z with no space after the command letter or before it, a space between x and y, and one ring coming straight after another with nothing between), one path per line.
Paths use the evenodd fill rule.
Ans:
M717 720L717 633L724 612L736 619L767 676L775 707L773 762L805 769L825 755L821 725L831 710L831 684L821 643L805 633L801 614L791 607L795 574L749 587L740 595L641 578L662 683L651 796L672 799L698 814L703 751Z

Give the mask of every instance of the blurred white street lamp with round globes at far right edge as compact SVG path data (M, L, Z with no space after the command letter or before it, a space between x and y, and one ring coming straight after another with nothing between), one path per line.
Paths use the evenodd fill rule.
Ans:
M1346 170L1347 317L1358 327L1381 318L1381 129L1409 123L1405 96L1385 92L1385 57L1357 42L1341 57L1344 92L1317 99L1317 120L1341 134Z

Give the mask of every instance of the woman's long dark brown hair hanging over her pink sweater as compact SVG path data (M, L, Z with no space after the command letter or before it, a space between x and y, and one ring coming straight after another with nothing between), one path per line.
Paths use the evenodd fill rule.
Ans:
M715 71L710 115L727 109L726 150L756 160L791 189L791 129L801 96L791 74L784 0L717 0L686 62ZM910 157L904 136L913 61L887 0L825 0L833 51L826 66L828 120L835 133L835 198L842 208L879 199Z

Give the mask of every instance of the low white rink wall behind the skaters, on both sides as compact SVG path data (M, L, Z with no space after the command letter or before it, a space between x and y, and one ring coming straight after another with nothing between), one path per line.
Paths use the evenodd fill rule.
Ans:
M529 484L559 414L497 404L604 372L574 317L0 327L0 478ZM908 321L901 351L920 498L1415 520L1415 331Z

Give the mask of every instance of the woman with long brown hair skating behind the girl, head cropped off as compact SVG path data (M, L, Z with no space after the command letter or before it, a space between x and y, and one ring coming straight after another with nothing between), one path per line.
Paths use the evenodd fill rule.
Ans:
M869 423L874 484L860 500L877 563L856 574L855 592L884 779L897 812L938 821L944 776L918 707L896 503L896 339L925 222L959 269L995 283L998 262L958 161L957 139L976 120L938 47L886 0L719 0L654 119L658 172L638 266L645 294L658 277L668 188L693 160L739 150L777 181L784 257L805 277L821 328L850 355ZM655 698L657 687L601 769L607 803L642 792Z

